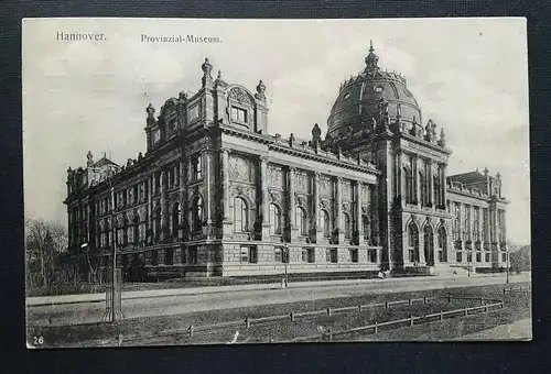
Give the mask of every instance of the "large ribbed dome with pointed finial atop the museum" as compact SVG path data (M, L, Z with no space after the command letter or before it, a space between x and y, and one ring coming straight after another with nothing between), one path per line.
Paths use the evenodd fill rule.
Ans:
M341 86L327 119L327 135L331 138L347 134L350 125L355 131L363 130L371 118L378 121L381 101L388 102L390 122L400 114L402 122L422 123L421 110L408 90L406 78L381 70L378 61L371 44L364 72Z

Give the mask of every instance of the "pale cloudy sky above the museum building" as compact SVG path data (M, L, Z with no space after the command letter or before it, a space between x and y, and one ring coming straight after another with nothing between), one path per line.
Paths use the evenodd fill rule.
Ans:
M102 33L63 42L58 32ZM142 35L203 35L219 43L151 43ZM104 152L119 164L145 152L145 108L158 110L213 76L255 92L267 86L269 133L311 138L341 82L364 69L372 40L379 66L402 74L423 121L446 133L449 175L501 174L507 235L530 243L528 59L525 19L23 21L25 215L66 224L66 170ZM437 130L440 133L440 130Z

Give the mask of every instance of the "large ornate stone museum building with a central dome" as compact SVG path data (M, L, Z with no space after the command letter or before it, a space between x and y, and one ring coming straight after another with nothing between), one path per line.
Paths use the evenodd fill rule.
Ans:
M214 79L205 59L195 95L147 108L144 155L68 169L71 251L94 268L116 246L128 274L177 277L280 274L285 249L290 273L504 267L500 175L449 176L444 130L372 46L365 63L325 139L300 140L269 134L262 80Z

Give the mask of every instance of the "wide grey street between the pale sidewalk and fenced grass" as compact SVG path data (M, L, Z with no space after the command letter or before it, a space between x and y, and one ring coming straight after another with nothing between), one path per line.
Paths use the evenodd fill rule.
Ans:
M529 274L511 276L511 283L529 282ZM417 292L478 285L504 284L505 276L477 276L477 277L419 277L419 278L390 278L383 280L347 283L335 282L294 284L288 289L245 289L199 293L191 295L171 295L164 297L141 297L123 299L122 308L127 318L183 315L214 309L230 309L270 304L295 302L302 300L316 300L358 296L364 294L381 294L398 292ZM28 318L36 324L76 324L101 321L105 302L89 301L78 304L63 304L50 306L34 306L28 308Z

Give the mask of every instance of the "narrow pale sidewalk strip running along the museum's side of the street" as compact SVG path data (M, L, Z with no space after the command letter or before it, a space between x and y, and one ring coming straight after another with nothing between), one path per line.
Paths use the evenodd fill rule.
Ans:
M471 277L504 277L503 274L473 274ZM306 288L306 287L325 287L325 286L350 286L371 283L402 283L402 282L424 282L431 277L396 277L387 279L345 279L345 280L315 280L315 282L293 282L290 283L288 288ZM466 278L465 276L435 276L434 279L452 279L452 278ZM528 274L511 276L511 282L528 282L530 276ZM504 277L505 283L505 277ZM255 285L230 285L230 286L207 286L207 287L192 287L192 288L172 288L172 289L148 289L148 290L131 290L123 292L122 299L139 299L139 298L155 298L168 296L190 296L202 294L218 294L218 293L233 293L242 290L259 290L259 289L280 289L280 283L271 284L255 284ZM53 306L65 304L80 304L80 302L100 302L106 300L106 294L80 294L80 295L60 295L60 296L40 296L26 298L26 307L37 306Z

